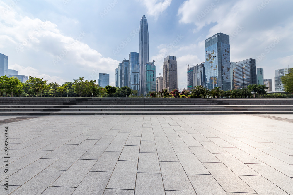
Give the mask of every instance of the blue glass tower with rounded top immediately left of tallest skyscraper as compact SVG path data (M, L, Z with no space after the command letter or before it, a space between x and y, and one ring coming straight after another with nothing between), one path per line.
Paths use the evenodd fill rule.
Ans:
M139 92L139 53L130 52L128 58L128 87Z

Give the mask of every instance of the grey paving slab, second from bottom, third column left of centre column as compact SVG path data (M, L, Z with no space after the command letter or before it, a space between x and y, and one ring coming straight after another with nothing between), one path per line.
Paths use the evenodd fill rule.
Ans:
M97 161L78 160L52 186L77 187Z

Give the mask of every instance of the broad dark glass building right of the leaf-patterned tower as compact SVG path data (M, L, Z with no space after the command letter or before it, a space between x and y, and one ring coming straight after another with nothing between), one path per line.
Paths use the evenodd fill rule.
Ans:
M250 84L257 84L255 59L236 62L233 69L233 89L242 89Z

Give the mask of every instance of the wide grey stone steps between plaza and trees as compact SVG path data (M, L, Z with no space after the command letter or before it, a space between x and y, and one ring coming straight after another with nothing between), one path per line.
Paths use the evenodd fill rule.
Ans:
M0 98L0 115L293 114L293 99Z

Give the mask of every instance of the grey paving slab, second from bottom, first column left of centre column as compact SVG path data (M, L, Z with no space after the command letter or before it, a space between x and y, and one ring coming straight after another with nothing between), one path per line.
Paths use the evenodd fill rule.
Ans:
M135 189L137 161L118 161L107 188Z

